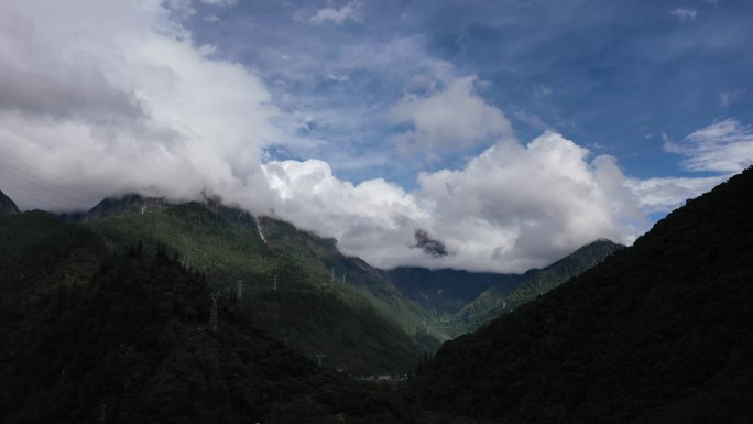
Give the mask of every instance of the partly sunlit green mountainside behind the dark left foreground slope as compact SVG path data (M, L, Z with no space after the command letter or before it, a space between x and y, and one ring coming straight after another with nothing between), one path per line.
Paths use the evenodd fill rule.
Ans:
M86 216L85 226L111 251L142 241L154 254L164 244L226 298L240 286L240 307L254 328L309 358L326 355L332 368L406 372L439 346L441 335L417 331L425 316L419 305L362 260L342 256L332 240L287 222L215 202L139 196L106 199Z

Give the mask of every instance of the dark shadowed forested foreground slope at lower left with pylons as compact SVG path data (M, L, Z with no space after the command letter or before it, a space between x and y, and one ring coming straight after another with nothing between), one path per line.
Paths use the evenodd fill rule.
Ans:
M17 238L23 228L36 240ZM212 330L205 279L161 248L111 257L45 213L2 221L0 235L17 248L0 258L0 287L15 293L0 309L3 423L417 421L388 388L317 368L231 301Z

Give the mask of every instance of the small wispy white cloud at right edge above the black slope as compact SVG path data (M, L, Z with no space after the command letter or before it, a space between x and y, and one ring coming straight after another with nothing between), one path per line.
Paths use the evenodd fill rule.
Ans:
M685 138L685 142L665 140L665 150L686 159L689 171L735 173L753 164L753 129L730 118L712 123Z

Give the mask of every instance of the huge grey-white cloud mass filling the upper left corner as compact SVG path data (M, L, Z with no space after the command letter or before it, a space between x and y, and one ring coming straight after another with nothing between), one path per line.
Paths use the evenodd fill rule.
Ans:
M259 156L277 111L255 75L193 42L176 4L0 4L0 153L14 165L0 178L22 207L207 188L268 203ZM79 195L61 194L59 178Z

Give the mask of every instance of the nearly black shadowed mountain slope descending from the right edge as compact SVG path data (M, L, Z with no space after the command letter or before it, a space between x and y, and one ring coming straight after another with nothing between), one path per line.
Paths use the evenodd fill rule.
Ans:
M477 333L424 405L504 423L753 421L753 168Z

